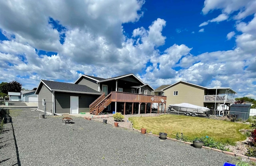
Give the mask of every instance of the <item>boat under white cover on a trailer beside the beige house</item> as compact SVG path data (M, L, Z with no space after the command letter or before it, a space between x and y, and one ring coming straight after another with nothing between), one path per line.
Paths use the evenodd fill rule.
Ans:
M208 113L208 111L210 111L210 109L207 107L196 106L196 105L188 104L188 103L170 104L169 107L173 108L174 110L176 110L178 112L184 112L184 114L186 114L187 116L189 116L189 115L196 116L198 114L208 115L207 113Z

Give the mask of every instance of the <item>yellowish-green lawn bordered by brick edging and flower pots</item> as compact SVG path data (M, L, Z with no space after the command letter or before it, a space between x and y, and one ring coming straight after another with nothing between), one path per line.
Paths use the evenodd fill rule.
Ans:
M190 140L195 137L209 136L222 143L245 140L246 136L238 130L250 128L246 124L184 115L131 117L129 120L133 123L134 128L138 130L146 128L147 132L152 132L153 134L165 132L168 137L175 138L177 132L182 132Z

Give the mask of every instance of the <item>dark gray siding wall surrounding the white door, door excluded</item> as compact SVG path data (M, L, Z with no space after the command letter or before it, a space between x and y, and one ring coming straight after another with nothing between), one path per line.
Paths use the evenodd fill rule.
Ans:
M56 113L70 114L70 96L78 96L78 113L89 112L89 105L100 95L55 92Z

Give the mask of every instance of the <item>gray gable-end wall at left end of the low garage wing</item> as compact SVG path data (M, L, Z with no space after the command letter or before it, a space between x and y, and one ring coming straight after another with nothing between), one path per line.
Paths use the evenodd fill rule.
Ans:
M38 109L44 110L42 99L46 101L46 112L52 112L52 91L50 91L44 84L38 93Z

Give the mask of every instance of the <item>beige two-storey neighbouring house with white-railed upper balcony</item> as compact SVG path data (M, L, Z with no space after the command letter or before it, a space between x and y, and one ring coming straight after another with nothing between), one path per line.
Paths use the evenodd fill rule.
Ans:
M179 81L172 85L156 88L154 94L166 96L166 105L189 103L208 107L212 110L229 110L230 104L235 102L234 94L236 92L231 88L206 88Z

